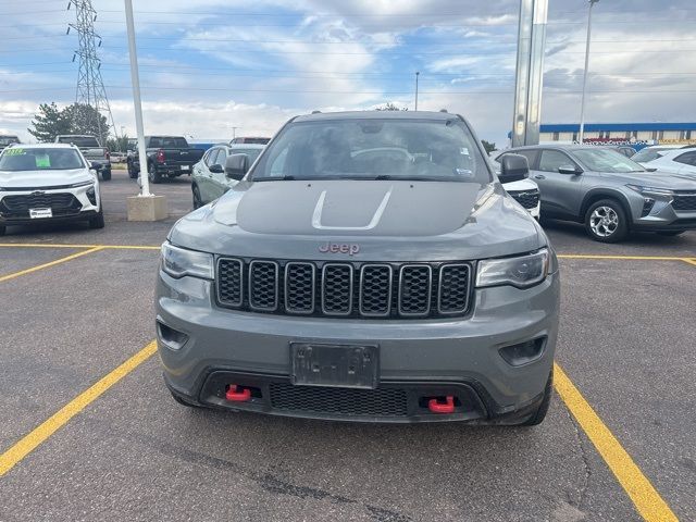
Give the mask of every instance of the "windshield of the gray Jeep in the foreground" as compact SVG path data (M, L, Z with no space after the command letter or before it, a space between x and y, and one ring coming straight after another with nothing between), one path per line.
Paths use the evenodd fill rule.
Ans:
M289 124L269 146L251 178L485 184L490 173L460 119L385 117Z

